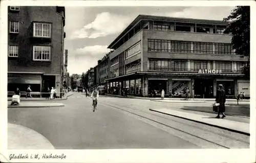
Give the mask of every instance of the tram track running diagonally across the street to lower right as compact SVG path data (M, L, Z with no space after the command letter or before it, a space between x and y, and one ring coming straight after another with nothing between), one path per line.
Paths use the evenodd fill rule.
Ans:
M148 109L147 110L135 109L135 107L133 107L132 105L120 106L117 104L110 104L106 101L100 101L100 105L105 105L108 107L112 107L112 108L124 111L129 114L132 114L143 121L147 121L146 123L150 123L151 125L155 123L153 124L153 126L155 127L157 126L160 128L165 128L166 130L172 129L179 132L180 134L183 134L183 135L186 134L186 135L189 135L190 137L194 137L194 138L188 138L188 139L194 139L194 140L200 139L201 144L202 144L202 141L204 141L204 142L207 142L206 144L214 145L215 148L224 148L224 149L249 148L249 143L246 141L243 141L243 138L239 139L239 138L236 138L235 136L230 138L227 135L227 133L222 134L221 132L223 131L223 129L218 129L219 131L218 133L218 131L215 132L215 130L210 130L215 127L208 127L206 125L204 125L204 127L200 127L202 126L202 124L193 125L190 122L188 122L188 120L186 121L183 120L184 122L177 121L174 118L169 118L169 117L167 118L166 115L159 115L158 113L148 111ZM228 132L228 134L230 133L230 135L232 135L231 131L225 131L225 132ZM172 132L169 132L169 133L173 134ZM179 136L179 134L177 136ZM215 136L217 136L217 138ZM222 139L221 143L219 143L218 139ZM200 140L198 142L200 142ZM228 142L228 143L226 144L225 142ZM240 147L239 144L242 144L242 146ZM204 148L207 148L207 147L204 147Z

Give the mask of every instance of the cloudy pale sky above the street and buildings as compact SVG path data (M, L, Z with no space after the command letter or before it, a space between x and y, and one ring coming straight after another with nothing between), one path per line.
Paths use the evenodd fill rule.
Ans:
M235 7L66 7L68 72L86 73L110 52L109 44L139 15L222 20Z

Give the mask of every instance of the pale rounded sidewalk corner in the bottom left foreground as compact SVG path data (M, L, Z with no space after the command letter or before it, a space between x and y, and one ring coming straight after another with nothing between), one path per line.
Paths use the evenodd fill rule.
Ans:
M24 126L8 123L8 149L54 149L47 138Z

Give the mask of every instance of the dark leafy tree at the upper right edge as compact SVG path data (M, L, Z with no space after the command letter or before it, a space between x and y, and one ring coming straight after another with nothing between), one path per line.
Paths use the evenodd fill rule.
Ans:
M243 72L250 77L250 6L237 6L224 21L233 20L224 33L231 33L233 49L236 53L248 56L248 61L243 67Z

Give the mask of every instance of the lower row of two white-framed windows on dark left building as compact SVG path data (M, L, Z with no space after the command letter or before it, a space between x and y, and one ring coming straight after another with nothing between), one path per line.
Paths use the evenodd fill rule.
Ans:
M9 57L18 57L18 45L9 45ZM33 45L33 60L50 61L51 46L35 46Z

